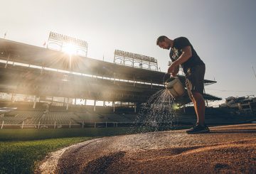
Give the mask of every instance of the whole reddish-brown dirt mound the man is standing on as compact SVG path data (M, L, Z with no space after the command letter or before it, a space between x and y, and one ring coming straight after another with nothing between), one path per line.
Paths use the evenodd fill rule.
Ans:
M57 151L43 173L256 173L256 124L209 134L162 131L97 138Z

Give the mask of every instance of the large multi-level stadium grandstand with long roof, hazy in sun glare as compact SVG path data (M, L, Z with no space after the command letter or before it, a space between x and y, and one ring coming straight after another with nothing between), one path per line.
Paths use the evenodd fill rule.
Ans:
M72 63L70 63L72 59ZM164 89L165 73L118 65L0 38L1 128L131 124L139 107ZM185 83L185 77L179 76ZM205 85L215 83L205 80ZM19 94L23 99L16 101ZM219 100L204 94L208 101ZM93 100L92 106L78 104ZM96 102L102 101L102 106ZM188 104L187 95L176 102ZM107 105L107 103L110 103Z

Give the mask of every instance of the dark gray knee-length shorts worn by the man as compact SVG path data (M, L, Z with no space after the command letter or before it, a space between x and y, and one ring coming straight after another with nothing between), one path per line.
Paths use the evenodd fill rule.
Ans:
M188 96L192 97L192 92L200 92L203 94L203 80L206 72L206 65L196 65L188 68L186 72L186 88Z

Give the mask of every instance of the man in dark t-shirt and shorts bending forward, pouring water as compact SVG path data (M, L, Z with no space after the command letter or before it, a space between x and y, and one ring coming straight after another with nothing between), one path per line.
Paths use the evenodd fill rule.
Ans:
M185 37L171 40L166 36L160 36L156 40L156 45L160 48L170 50L171 66L168 72L172 77L178 73L179 65L183 67L186 74L186 88L188 96L193 102L197 122L196 125L186 131L188 134L207 133L210 130L205 124L206 104L203 99L203 79L206 71L206 65L199 58L189 40Z

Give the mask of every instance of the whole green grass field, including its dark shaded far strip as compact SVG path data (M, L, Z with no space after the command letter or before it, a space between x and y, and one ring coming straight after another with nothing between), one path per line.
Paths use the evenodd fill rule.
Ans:
M0 173L33 173L46 155L74 143L128 134L129 128L1 129Z

